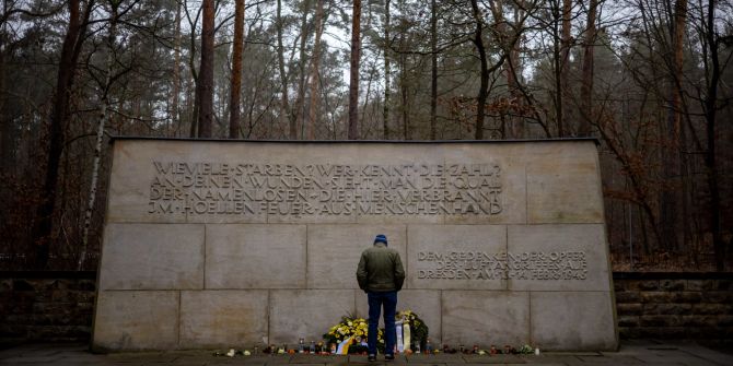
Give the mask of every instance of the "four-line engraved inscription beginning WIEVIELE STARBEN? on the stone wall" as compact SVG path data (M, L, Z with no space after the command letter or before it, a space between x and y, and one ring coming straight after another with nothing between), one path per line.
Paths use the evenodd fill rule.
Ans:
M485 164L152 162L151 215L499 215L501 167Z

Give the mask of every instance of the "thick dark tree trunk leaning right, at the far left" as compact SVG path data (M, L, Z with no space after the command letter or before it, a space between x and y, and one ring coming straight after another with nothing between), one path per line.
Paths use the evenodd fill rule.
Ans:
M36 267L45 269L48 264L51 234L54 232L54 210L58 187L59 162L63 153L66 137L63 130L69 120L69 99L73 87L77 62L84 42L86 25L94 1L88 1L83 13L80 0L69 0L69 27L63 37L61 57L56 80L56 91L51 99L51 115L48 123L48 147L46 175L40 191L42 203L38 205L34 223L33 239L36 245Z

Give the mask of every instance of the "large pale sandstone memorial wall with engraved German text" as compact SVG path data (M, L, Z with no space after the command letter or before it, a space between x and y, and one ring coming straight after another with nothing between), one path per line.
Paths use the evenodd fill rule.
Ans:
M97 350L319 340L385 234L433 344L617 346L594 140L116 139Z

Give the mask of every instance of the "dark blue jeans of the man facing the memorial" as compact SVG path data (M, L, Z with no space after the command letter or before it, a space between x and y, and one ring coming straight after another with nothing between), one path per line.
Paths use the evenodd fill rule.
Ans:
M380 327L380 312L384 306L384 353L394 354L395 350L395 310L397 309L397 292L389 291L384 293L368 292L369 299L369 354L376 354L376 333Z

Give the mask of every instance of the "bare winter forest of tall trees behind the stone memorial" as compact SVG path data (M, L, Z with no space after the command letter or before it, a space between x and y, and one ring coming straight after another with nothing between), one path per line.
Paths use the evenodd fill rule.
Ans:
M733 262L733 2L3 0L0 270L95 270L110 135L600 141L615 270Z

